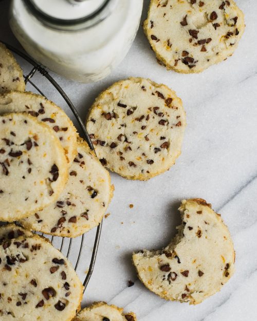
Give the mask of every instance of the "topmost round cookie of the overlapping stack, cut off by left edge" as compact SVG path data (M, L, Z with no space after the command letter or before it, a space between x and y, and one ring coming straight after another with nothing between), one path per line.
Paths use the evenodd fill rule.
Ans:
M26 114L0 116L0 220L28 217L54 202L67 161L52 130Z

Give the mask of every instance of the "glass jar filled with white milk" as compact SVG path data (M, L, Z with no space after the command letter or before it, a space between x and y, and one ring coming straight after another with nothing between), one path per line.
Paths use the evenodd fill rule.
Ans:
M12 0L10 26L24 49L79 82L106 77L135 39L143 0Z

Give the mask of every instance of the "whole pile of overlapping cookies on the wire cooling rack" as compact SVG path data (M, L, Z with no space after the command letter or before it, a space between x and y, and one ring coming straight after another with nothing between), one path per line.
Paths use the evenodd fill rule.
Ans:
M31 231L82 235L102 220L113 186L65 112L24 91L22 70L2 44L0 56L0 221L20 225L0 227L0 318L70 321L83 285L62 253Z

